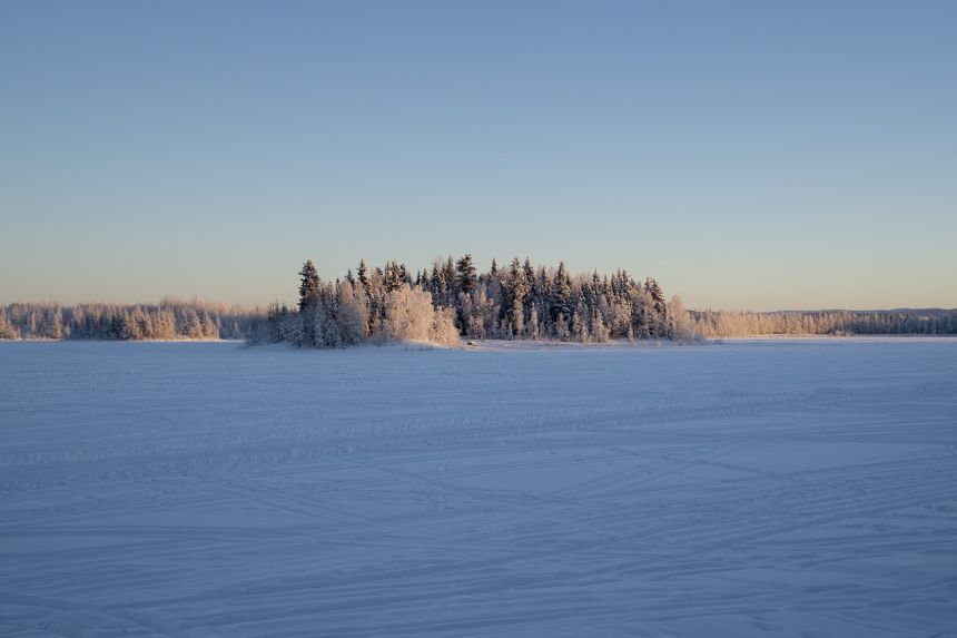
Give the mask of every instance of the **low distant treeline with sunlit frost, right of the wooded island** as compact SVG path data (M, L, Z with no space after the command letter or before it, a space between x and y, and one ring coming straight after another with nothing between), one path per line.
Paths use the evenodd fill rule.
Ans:
M691 311L704 337L767 334L864 335L957 334L957 310L722 312Z

